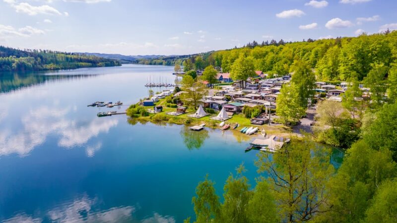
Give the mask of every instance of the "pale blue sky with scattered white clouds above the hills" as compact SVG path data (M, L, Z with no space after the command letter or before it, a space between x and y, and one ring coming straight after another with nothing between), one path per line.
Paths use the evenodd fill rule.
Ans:
M0 0L0 45L192 54L397 29L397 0Z

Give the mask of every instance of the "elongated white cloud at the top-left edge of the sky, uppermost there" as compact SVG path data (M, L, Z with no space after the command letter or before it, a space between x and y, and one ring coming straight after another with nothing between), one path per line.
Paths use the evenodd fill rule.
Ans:
M54 7L51 7L50 5L33 6L27 2L17 3L15 0L3 0L3 1L8 3L11 7L15 8L15 11L18 13L25 13L28 15L37 15L37 14L62 15L60 11L58 11Z

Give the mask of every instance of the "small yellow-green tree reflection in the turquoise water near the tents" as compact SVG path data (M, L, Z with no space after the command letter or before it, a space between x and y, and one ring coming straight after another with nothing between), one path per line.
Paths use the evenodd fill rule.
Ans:
M209 137L208 131L203 129L201 131L192 131L190 126L183 126L180 132L183 142L189 150L199 149L205 139Z

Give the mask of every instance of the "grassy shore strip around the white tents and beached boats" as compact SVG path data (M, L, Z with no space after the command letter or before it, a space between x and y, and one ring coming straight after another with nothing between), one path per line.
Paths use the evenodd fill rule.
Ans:
M161 99L157 103L155 103L156 106L162 106L163 111L159 113L149 113L148 116L142 116L142 115L134 115L131 117L132 119L136 119L136 121L143 121L143 122L154 122L154 123L174 123L174 124L187 124L187 125L199 125L202 123L205 123L206 127L210 128L219 128L219 123L221 121L216 121L210 119L210 117L216 115L215 114L210 114L201 118L192 118L188 117L189 114L192 114L196 112L194 108L189 108L186 113L178 115L178 116L173 116L173 115L167 115L166 113L171 112L171 111L176 111L175 108L168 108L166 107L166 100ZM153 109L152 107L145 107L147 109ZM217 111L218 112L218 111ZM240 130L243 127L250 127L250 126L255 126L259 127L260 129L264 128L266 131L267 135L277 135L277 136L290 136L292 134L292 130L290 127L283 126L281 124L264 124L262 126L258 125L252 125L250 122L249 118L246 118L244 114L239 113L239 114L234 114L232 118L226 120L225 122L227 123L238 123L239 127L235 130L230 129L229 131L233 131L233 134L240 134ZM255 134L253 136L256 136Z

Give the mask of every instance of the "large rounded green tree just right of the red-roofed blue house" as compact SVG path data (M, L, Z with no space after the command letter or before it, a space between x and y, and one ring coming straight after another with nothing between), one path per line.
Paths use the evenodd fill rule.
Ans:
M252 57L240 56L236 59L230 69L230 77L233 80L247 80L255 77L254 62Z

